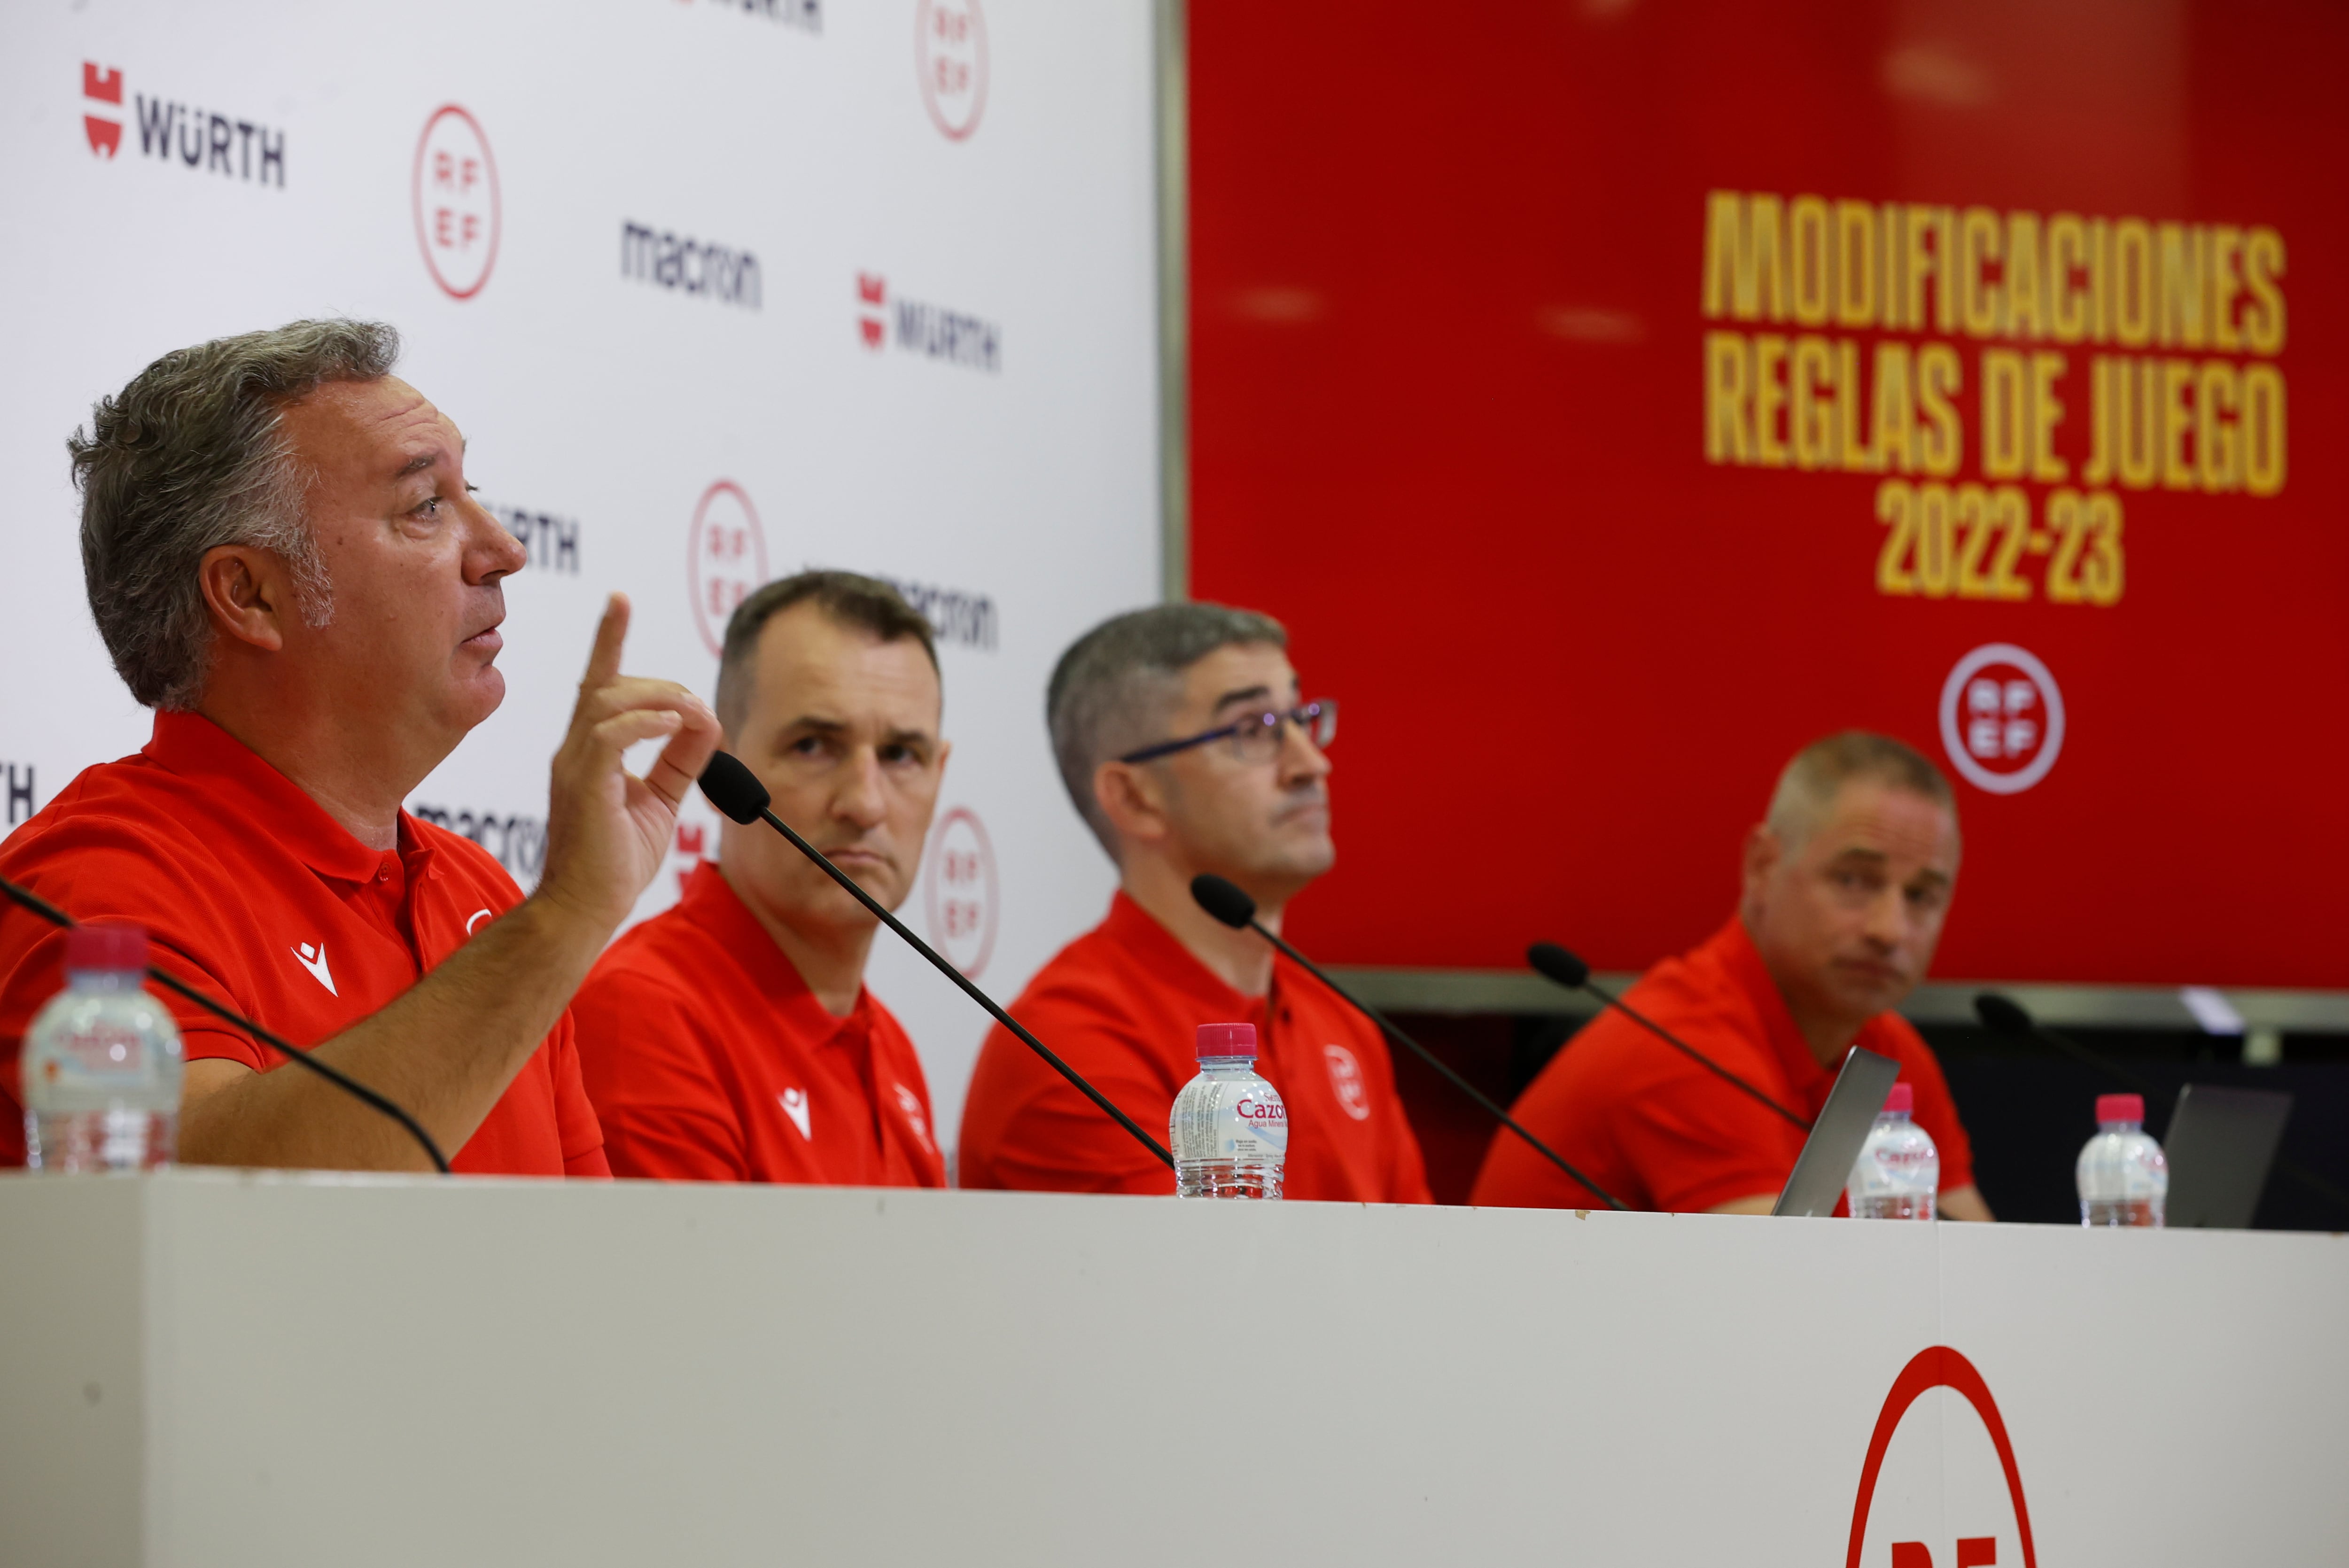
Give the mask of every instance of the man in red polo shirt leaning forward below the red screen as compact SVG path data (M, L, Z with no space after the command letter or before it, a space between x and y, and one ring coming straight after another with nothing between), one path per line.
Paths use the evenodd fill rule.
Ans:
M1738 913L1623 1000L1802 1117L1853 1045L1891 1056L1940 1150L1940 1214L1987 1221L1940 1063L1891 1012L1933 962L1957 857L1957 798L1933 763L1882 735L1830 735L1788 763L1748 836ZM1633 1209L1769 1214L1802 1155L1799 1127L1611 1009L1510 1110ZM1494 1138L1468 1202L1593 1199Z

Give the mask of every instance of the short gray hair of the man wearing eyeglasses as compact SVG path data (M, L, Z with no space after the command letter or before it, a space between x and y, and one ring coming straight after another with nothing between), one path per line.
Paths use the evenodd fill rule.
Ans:
M1287 648L1290 634L1278 620L1254 610L1163 603L1104 620L1052 667L1043 716L1052 730L1059 782L1069 786L1076 812L1111 859L1118 854L1118 836L1092 796L1095 770L1128 751L1174 739L1163 730L1182 702L1182 674L1233 643Z

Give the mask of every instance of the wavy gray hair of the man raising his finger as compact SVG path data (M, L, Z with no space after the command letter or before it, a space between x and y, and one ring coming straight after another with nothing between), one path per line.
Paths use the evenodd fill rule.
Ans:
M399 333L291 322L164 354L66 441L82 491L82 577L115 674L155 709L193 709L211 669L197 566L223 545L294 570L296 610L324 627L334 592L303 512L310 474L284 406L329 380L376 380Z

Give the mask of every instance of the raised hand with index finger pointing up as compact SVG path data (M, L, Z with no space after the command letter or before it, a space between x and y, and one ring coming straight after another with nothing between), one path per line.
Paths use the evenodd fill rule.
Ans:
M601 941L660 873L677 836L677 807L719 749L719 721L674 681L620 674L627 594L613 594L587 655L587 678L571 732L554 751L547 789L547 866L540 899L601 925ZM630 746L667 737L639 779L622 768Z

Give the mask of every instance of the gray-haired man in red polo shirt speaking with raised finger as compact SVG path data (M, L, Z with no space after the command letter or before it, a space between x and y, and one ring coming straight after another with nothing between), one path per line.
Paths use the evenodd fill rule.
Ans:
M153 960L402 1103L460 1171L601 1176L564 1012L660 869L716 746L681 685L620 676L597 629L554 753L529 899L402 800L505 695L521 545L472 500L465 441L392 378L397 336L296 322L164 354L73 439L89 608L157 709L0 843L0 876L129 920ZM627 746L667 739L639 779ZM0 1160L16 1056L63 934L0 906ZM179 998L179 1157L428 1169L392 1120Z

